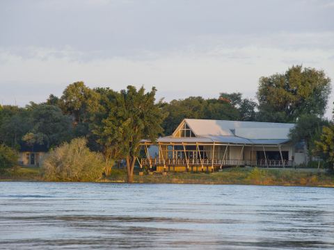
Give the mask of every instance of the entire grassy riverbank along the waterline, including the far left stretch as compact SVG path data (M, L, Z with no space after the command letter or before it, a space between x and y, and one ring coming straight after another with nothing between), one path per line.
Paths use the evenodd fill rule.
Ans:
M1 181L43 181L37 167L17 167L0 175ZM124 169L113 169L111 175L98 182L126 183ZM334 175L317 169L265 169L234 167L215 173L145 173L134 174L134 183L175 184L241 184L241 185L301 185L333 187Z

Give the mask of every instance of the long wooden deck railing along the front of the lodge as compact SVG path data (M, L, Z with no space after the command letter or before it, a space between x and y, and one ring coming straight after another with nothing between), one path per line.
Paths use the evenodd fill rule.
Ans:
M211 159L173 159L141 158L142 166L257 166L257 167L292 167L292 160L211 160Z

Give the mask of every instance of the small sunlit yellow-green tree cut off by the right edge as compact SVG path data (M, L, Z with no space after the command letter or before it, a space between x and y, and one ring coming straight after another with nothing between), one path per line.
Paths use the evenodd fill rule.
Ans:
M334 125L324 126L320 140L315 141L315 151L329 163L331 170L334 168Z

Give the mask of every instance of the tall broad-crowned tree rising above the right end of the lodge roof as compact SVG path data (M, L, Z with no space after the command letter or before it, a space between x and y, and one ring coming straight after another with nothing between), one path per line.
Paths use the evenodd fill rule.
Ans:
M322 117L331 92L324 71L292 66L285 74L261 77L257 90L258 119L262 122L296 122L301 115Z

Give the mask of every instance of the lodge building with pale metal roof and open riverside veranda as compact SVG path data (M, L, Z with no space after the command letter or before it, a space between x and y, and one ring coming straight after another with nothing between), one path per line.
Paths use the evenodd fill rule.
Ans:
M157 172L214 172L223 167L292 167L308 159L305 145L290 142L294 124L184 119L154 144L142 140L140 167ZM152 155L153 149L157 152Z

